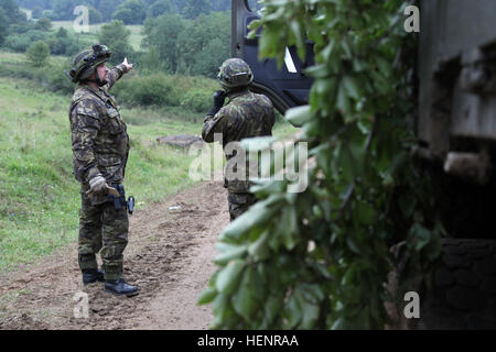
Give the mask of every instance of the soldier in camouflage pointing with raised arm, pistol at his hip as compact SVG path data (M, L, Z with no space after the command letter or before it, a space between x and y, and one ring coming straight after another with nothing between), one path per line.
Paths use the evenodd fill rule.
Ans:
M66 73L78 82L68 111L74 174L82 184L78 262L85 285L105 279L106 292L132 296L138 287L121 277L129 229L126 196L108 194L109 187L120 188L129 155L126 123L108 90L132 65L125 59L109 70L110 55L106 46L94 45L93 51L79 53ZM104 271L96 261L100 250Z

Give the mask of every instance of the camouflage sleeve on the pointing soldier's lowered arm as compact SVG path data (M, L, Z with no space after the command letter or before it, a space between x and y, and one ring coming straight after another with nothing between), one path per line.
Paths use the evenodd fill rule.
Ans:
M79 179L89 182L98 175L97 161L94 153L95 139L100 130L98 111L94 102L80 101L73 110L75 125L73 130L73 154L75 173Z

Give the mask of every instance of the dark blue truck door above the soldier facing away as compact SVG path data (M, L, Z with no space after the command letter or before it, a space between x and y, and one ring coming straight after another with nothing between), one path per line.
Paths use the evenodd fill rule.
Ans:
M251 8L250 8L251 6ZM233 0L233 57L242 58L254 72L251 90L268 96L276 109L284 113L289 108L309 103L309 92L313 79L303 69L314 64L312 45L308 46L305 62L296 54L295 47L285 51L284 65L278 69L276 59L258 61L258 37L247 37L248 24L260 18L255 9L256 1Z

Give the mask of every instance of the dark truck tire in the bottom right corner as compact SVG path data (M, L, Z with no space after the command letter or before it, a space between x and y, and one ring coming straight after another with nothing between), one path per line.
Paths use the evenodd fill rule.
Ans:
M417 329L496 329L496 241L444 239Z

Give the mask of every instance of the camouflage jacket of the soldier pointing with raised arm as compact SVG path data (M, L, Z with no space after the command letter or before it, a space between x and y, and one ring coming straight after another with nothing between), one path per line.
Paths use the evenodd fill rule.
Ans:
M96 90L80 84L74 92L69 121L74 175L88 189L88 182L101 174L107 183L122 183L129 155L129 136L119 106L108 92L123 75L123 66L112 68L109 82Z

